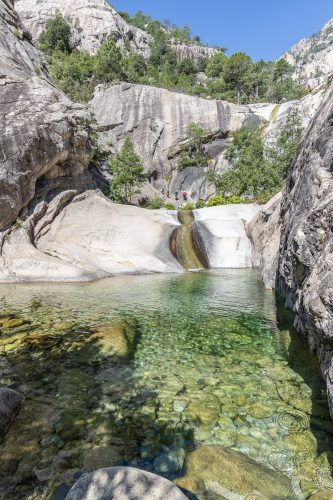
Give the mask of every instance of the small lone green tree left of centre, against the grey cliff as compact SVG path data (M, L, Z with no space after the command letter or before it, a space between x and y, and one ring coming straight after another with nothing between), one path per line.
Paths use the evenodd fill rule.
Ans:
M116 155L108 161L110 180L110 198L117 203L131 203L131 198L139 192L140 186L146 182L142 159L134 151L131 139L127 136Z

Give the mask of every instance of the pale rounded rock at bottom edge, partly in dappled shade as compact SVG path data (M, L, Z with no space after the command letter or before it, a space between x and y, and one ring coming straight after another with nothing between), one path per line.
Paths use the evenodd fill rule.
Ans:
M167 479L132 467L109 467L85 474L65 500L186 500Z

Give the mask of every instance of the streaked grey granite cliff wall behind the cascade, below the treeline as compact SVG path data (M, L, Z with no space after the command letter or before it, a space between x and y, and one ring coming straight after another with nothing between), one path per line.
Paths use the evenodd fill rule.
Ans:
M223 151L232 132L243 126L269 123L250 106L129 83L98 86L91 110L99 124L102 143L111 143L117 150L130 135L146 169L152 173L153 186L164 192L169 189L170 194L185 188L192 190L195 201L206 198L209 191L204 169L199 167L185 176L177 170L190 123L198 123L207 131L206 145L214 168L223 168Z

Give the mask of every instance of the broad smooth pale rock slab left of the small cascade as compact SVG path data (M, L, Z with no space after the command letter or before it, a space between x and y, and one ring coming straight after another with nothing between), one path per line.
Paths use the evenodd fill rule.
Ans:
M169 248L178 225L173 211L115 205L96 191L65 191L3 238L0 282L181 272Z

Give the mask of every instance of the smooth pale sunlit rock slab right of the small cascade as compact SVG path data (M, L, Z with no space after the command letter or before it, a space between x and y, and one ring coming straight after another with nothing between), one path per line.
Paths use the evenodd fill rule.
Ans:
M252 267L251 242L245 225L259 206L225 205L195 210L193 236L209 267Z

